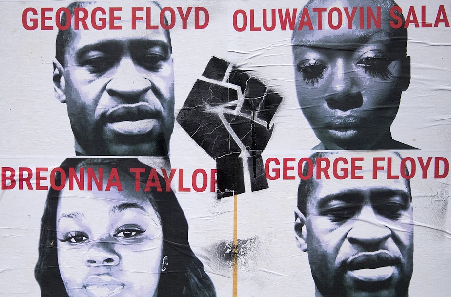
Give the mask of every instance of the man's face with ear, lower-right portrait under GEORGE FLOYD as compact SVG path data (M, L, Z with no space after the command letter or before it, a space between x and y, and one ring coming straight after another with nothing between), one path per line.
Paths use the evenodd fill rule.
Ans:
M370 175L370 173L368 174ZM413 218L405 180L314 180L298 246L321 297L407 297Z

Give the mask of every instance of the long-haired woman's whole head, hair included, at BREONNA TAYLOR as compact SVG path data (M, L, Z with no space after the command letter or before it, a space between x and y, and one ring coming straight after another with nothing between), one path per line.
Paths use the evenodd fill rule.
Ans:
M174 193L146 188L130 170L144 177L152 168L127 158L68 158L60 168L55 184L64 187L49 191L41 221L41 296L216 296ZM72 184L74 174L99 180L100 171L91 190Z

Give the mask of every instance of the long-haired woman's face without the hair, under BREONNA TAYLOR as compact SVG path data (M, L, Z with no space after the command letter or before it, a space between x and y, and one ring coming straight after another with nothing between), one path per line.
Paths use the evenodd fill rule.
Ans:
M129 180L128 180L129 179ZM57 209L58 263L69 297L152 297L161 272L160 218L131 177L123 191L63 189Z

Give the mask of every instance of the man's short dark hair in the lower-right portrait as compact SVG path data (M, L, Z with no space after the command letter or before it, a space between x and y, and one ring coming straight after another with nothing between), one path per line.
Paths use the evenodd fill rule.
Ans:
M394 155L396 155L398 158L402 159L402 156L400 153L398 152L392 152ZM312 160L313 162L313 169L316 166L316 158L326 158L330 155L335 155L338 154L338 152L315 152L314 154L312 154L309 158ZM308 163L305 163L303 168L302 168L302 175L303 176L308 176L309 172L309 167L308 167ZM407 176L409 176L409 171L407 169L407 166L404 165L404 172L406 173ZM314 176L312 176L311 178L308 179L301 179L301 182L299 183L299 187L298 187L298 209L299 211L307 217L307 203L308 203L308 198L312 195L312 191L313 191L313 180L314 180ZM405 180L405 184L406 184L406 189L407 192L409 193L409 198L410 198L410 202L412 201L412 192L410 189L410 180L409 179L404 179Z

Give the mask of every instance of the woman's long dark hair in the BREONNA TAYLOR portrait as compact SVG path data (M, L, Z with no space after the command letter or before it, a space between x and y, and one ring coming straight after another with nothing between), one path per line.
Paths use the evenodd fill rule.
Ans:
M135 176L130 168L144 168L141 175L141 187L144 189L151 167L139 162L136 158L67 158L61 168L66 177L69 168L105 166L116 168L121 176ZM204 271L204 266L196 257L188 242L188 223L174 192L166 192L164 178L159 176L163 191L155 188L144 191L160 218L163 230L162 256L169 257L169 265L160 274L158 297L215 297L215 289L211 279ZM62 175L55 175L55 184L60 185ZM35 266L35 278L41 287L41 297L68 297L58 264L57 249L57 208L62 190L51 188L47 195L44 214L41 219L39 238L39 257Z

